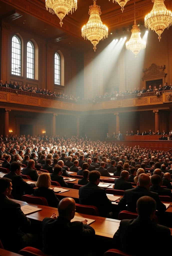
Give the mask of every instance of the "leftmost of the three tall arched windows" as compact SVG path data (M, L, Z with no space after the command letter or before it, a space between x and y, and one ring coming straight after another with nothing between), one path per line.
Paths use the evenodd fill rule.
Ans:
M12 38L11 73L17 76L21 76L21 41L16 35Z

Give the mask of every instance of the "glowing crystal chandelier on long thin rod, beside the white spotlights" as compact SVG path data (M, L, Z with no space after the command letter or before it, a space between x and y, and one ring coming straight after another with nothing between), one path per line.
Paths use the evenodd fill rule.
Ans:
M135 0L134 0L134 25L131 30L131 38L126 42L126 49L132 51L137 57L140 50L146 48L146 42L140 37L140 29L136 24L136 10L135 10Z

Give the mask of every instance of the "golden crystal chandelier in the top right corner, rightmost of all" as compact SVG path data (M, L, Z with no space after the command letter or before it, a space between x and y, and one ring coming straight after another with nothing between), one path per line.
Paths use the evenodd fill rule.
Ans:
M152 29L158 34L158 39L160 41L161 34L165 28L169 28L172 24L172 13L167 10L165 0L152 0L154 3L153 9L145 17L145 27Z

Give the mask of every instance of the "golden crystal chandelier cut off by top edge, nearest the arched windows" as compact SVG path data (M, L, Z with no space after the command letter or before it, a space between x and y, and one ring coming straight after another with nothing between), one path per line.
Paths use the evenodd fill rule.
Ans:
M45 0L46 9L56 14L60 19L60 26L63 25L62 19L74 9L77 9L77 0Z

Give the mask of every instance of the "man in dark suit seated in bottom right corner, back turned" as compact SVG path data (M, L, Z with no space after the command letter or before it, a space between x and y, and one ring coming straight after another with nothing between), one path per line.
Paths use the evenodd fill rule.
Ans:
M171 232L169 228L155 223L153 220L157 208L156 201L149 197L143 196L138 199L136 211L138 217L132 220L121 220L120 227L113 236L113 248L122 250L130 255L169 255L169 246L158 246L157 241L159 237L163 237L168 244L171 244ZM128 239L132 237L136 241L139 237L140 241L144 241L149 233L151 243L154 246L142 246L136 243L131 246L131 241Z

